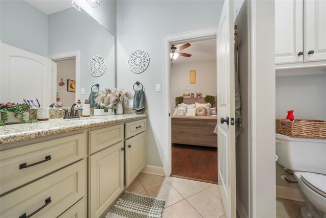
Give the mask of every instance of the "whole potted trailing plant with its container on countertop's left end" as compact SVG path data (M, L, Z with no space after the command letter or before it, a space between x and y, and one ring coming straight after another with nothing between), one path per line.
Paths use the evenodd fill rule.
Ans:
M30 106L27 104L15 104L15 103L0 103L1 120L0 126L5 124L17 124L17 123L36 123L38 120L29 119ZM25 119L25 117L27 117Z

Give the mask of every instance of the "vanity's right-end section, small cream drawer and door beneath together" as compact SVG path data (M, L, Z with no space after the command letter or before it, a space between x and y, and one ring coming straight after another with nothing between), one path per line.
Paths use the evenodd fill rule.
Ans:
M146 119L125 125L126 186L138 176L146 165Z

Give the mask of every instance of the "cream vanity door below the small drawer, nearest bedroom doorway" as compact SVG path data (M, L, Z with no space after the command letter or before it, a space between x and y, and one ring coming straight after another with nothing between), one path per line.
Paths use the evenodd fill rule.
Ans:
M146 132L126 140L126 186L138 176L146 165Z

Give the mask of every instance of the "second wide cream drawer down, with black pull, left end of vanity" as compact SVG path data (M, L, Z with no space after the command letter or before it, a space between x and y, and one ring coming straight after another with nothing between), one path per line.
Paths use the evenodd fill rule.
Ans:
M57 217L85 195L86 160L23 186L0 198L1 217Z

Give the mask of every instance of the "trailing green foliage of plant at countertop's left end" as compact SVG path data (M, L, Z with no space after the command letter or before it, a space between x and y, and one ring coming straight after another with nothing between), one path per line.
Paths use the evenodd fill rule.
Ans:
M1 120L0 120L0 126L4 126L5 123L8 121L9 118L9 111L15 112L15 116L19 118L21 123L36 123L38 122L37 119L31 119L31 120L25 120L25 111L29 110L29 106L25 106L26 104L15 104L15 103L0 103L0 114L1 114Z

